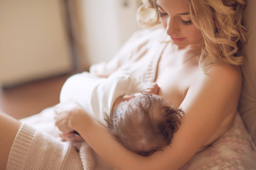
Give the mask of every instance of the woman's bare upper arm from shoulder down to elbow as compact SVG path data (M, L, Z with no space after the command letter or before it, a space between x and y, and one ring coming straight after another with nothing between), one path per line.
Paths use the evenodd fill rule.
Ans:
M169 163L176 169L186 164L202 147L220 137L233 123L238 107L242 77L239 67L215 64L192 84L181 103L185 115L169 152ZM230 120L220 129L223 120ZM215 135L216 130L221 131ZM214 138L213 138L214 134ZM172 154L171 154L172 153ZM173 157L175 155L175 157Z

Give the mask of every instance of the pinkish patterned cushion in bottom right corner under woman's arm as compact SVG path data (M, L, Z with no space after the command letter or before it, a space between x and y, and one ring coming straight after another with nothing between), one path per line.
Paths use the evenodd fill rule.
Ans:
M240 169L256 167L256 147L237 114L235 122L213 144L194 155L179 170Z

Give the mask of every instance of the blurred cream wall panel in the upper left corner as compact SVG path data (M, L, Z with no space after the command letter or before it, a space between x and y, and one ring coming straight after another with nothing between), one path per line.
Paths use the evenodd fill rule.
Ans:
M61 1L0 0L0 84L72 69Z

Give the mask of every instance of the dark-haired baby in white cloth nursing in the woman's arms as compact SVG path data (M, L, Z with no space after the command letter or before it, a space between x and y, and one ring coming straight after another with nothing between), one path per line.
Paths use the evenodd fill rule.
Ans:
M181 124L182 111L158 96L158 90L156 83L142 84L129 74L99 78L83 72L65 82L60 103L77 101L127 149L149 156L169 145Z

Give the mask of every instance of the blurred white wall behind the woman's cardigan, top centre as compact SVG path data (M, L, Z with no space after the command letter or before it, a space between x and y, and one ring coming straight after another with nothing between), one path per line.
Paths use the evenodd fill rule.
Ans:
M125 6L127 5L127 6ZM108 61L138 29L139 0L83 0L86 61Z

